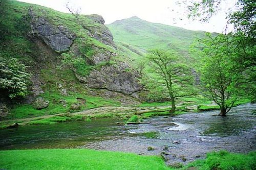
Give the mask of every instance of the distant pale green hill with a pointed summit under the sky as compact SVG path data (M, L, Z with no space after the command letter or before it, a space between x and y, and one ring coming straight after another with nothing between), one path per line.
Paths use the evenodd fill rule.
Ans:
M163 48L175 50L187 64L201 59L189 54L189 46L197 39L205 36L203 31L190 31L179 27L162 25L142 20L136 16L122 19L107 25L114 41L132 58L140 59L146 50Z

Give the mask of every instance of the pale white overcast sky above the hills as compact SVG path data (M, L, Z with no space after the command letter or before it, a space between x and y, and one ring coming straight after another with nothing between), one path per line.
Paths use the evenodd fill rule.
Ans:
M61 12L68 12L66 3L68 0L19 0L31 4L38 4L53 8ZM132 16L141 19L163 23L165 25L182 27L188 30L201 30L207 32L222 33L226 27L225 12L234 5L236 1L228 0L227 4L221 6L222 10L211 18L209 23L192 21L186 19L184 8L176 5L177 0L69 0L74 8L80 7L80 14L102 15L105 24ZM182 20L180 20L182 18Z

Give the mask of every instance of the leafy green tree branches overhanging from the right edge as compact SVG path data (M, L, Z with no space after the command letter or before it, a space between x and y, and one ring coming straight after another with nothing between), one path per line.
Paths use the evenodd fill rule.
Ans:
M186 1L190 2L187 6L189 11L188 17L196 18L200 17L202 21L208 21L209 18L218 12L221 3L225 3L226 0L200 0L200 1ZM214 50L214 47L220 48L226 47L226 66L230 68L230 72L233 72L234 77L237 77L236 87L246 89L243 95L255 100L256 91L256 3L251 0L238 0L236 7L232 11L227 13L228 19L227 25L232 24L234 30L222 38L217 37L214 45L208 45L208 49ZM225 37L225 38L224 38ZM224 51L222 51L223 53ZM210 80L209 80L210 81ZM233 84L233 83L232 83Z

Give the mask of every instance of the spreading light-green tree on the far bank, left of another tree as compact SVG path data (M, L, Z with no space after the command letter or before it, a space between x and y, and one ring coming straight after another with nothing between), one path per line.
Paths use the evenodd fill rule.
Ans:
M158 88L168 94L172 103L170 112L175 112L177 98L194 94L189 88L189 85L193 84L191 70L186 65L178 63L174 54L158 49L148 51L146 59L151 69L149 84L146 86L154 84L155 89Z

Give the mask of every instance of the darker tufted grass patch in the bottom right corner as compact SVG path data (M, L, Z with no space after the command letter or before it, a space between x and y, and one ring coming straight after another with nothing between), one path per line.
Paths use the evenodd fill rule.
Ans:
M205 160L190 163L188 167L198 170L253 170L256 167L256 152L249 154L234 154L227 151L211 152Z

